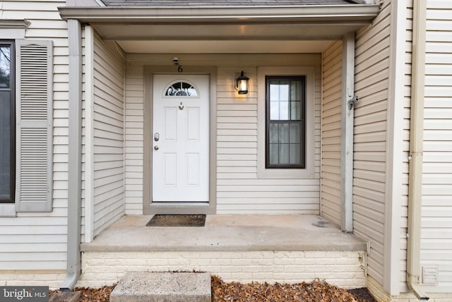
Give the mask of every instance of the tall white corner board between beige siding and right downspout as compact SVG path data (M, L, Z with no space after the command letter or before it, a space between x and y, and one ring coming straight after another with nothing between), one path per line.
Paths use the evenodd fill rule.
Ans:
M391 42L386 116L383 288L400 294L400 220L402 219L403 99L405 90L405 1L391 1Z

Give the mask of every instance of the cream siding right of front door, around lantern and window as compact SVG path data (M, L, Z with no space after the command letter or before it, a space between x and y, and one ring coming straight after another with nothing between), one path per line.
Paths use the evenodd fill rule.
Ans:
M278 66L278 57L268 57L266 65ZM302 58L302 56L300 56ZM307 56L308 58L309 56ZM316 123L320 119L320 56L311 56L316 62ZM300 60L297 60L297 63ZM304 60L303 60L304 61ZM263 62L258 64L262 65ZM286 65L284 61L283 65ZM305 63L307 64L307 63ZM299 64L303 65L303 64ZM312 65L309 63L307 65ZM217 122L221 125L217 140L217 212L227 214L319 214L319 166L316 179L261 179L257 163L250 165L258 154L257 103L265 102L256 95L256 71L246 68L252 85L248 97L237 99L233 75L237 68L218 68ZM314 106L315 106L314 105ZM263 115L261 116L263 118ZM316 159L319 159L319 129L316 127ZM219 129L220 130L220 129Z

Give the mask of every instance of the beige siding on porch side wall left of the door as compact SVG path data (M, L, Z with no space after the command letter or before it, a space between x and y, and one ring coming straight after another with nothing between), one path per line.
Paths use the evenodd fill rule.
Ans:
M124 215L124 59L94 39L93 234Z

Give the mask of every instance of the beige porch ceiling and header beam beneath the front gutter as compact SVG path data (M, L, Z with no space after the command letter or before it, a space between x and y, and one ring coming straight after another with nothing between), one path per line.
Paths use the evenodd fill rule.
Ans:
M357 30L352 24L103 24L92 23L104 40L129 53L312 53ZM361 25L363 25L361 23Z

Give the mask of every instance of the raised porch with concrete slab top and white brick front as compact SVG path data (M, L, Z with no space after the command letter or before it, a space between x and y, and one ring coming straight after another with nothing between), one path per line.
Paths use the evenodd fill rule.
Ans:
M225 282L366 285L367 244L316 215L210 215L204 227L145 227L127 215L83 243L78 286L128 272L208 272Z

